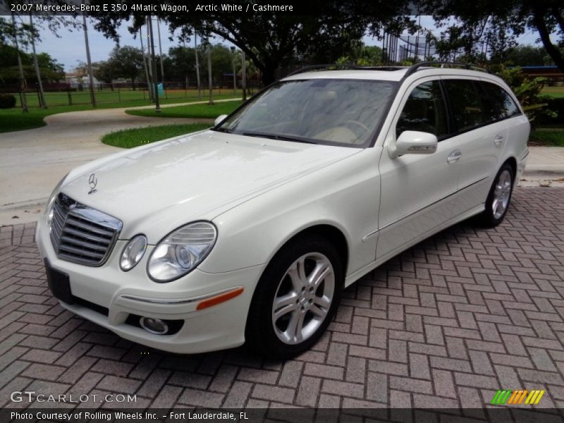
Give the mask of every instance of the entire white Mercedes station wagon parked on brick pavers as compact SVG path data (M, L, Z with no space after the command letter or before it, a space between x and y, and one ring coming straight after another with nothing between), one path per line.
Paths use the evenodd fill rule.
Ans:
M153 348L292 357L379 264L500 223L528 135L503 80L470 66L290 75L210 130L68 173L37 224L49 288Z

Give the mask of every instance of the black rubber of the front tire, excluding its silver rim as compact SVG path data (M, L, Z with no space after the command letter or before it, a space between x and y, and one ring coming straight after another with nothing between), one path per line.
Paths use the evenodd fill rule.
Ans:
M325 255L333 265L333 272L335 274L333 300L325 320L317 328L317 331L298 345L288 345L283 343L274 332L274 327L272 326L272 304L278 285L290 265L296 259L302 257L302 255L312 252ZM329 323L331 323L341 298L343 282L344 274L341 258L336 248L325 238L310 236L288 243L271 259L257 283L247 318L246 339L248 346L257 353L280 358L295 357L308 350L319 340L327 326L329 326Z

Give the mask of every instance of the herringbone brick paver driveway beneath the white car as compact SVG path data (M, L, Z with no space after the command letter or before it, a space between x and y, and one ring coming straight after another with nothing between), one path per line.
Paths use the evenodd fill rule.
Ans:
M420 243L348 288L326 336L288 362L124 341L51 298L32 225L1 228L0 403L27 390L135 393L136 407L458 408L527 388L564 407L563 211L564 190L521 188L498 228Z

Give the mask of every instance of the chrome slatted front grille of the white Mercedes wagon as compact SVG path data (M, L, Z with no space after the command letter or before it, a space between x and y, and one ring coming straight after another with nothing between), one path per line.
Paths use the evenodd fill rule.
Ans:
M122 223L119 219L57 195L51 219L51 243L57 257L86 266L102 266L108 259Z

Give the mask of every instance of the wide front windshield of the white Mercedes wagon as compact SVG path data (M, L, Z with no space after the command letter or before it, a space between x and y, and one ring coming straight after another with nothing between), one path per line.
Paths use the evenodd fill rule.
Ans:
M277 140L367 147L394 85L345 79L278 82L215 129Z

